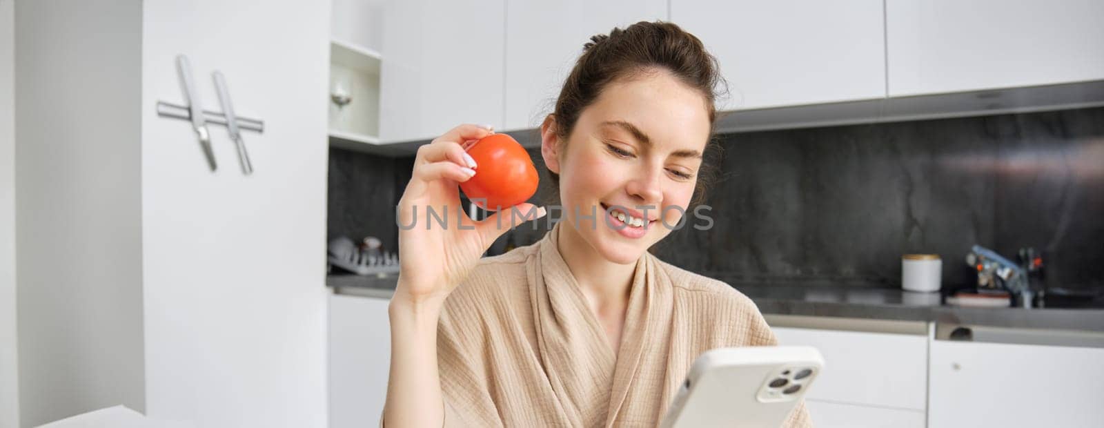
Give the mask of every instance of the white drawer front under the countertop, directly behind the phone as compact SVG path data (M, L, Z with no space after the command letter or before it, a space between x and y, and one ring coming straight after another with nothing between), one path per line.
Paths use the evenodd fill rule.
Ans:
M769 322L769 319L768 319ZM863 321L860 321L863 322ZM772 325L779 344L820 350L825 371L807 395L831 403L926 409L927 335Z

